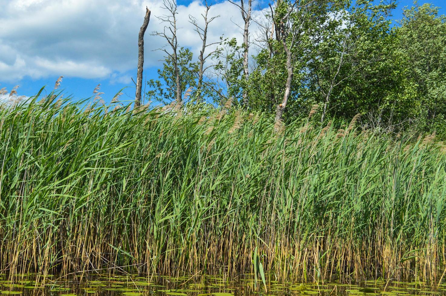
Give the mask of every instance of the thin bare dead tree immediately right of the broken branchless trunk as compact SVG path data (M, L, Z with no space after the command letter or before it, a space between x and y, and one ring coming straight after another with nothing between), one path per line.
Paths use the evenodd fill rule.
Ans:
M178 68L178 39L177 39L177 4L174 0L163 0L161 5L162 9L167 11L167 14L163 16L158 16L158 20L164 23L165 26L162 32L153 32L153 35L161 36L166 41L165 47L161 48L166 55L165 60L169 61L173 65L173 72L175 74L175 93L177 103L182 102L182 90L180 73ZM166 47L170 47L171 51L168 51Z

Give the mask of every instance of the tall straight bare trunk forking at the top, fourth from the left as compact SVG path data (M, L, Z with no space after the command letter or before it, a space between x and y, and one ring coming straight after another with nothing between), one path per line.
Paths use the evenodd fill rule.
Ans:
M249 58L249 22L251 21L251 11L252 11L252 0L248 0L248 7L245 8L245 0L240 0L240 4L232 2L228 0L238 8L240 8L240 12L242 14L242 18L245 22L243 29L243 72L244 79L248 81L249 78L249 69L248 69L248 58ZM248 108L249 98L248 98L248 89L245 87L243 91L243 101L242 104L245 108Z

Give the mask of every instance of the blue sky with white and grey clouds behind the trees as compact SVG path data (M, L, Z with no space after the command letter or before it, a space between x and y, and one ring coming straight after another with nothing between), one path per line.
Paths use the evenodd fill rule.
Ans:
M160 3L160 0L0 0L0 88L10 90L20 85L18 94L31 96L45 85L51 91L57 78L63 75L61 88L74 99L90 97L96 85L101 84L106 101L122 88L126 89L121 98L131 100L135 92L130 78L136 76L137 32L146 5L153 13L145 38L145 77L155 77L161 65L162 55L155 49L163 41L149 35L161 28L155 17L162 13ZM412 3L400 0L393 18L400 19L401 9ZM446 0L419 1L423 3L439 6L440 13L446 14ZM179 0L178 4L179 41L198 52L199 40L188 23L188 15L199 16L202 6L198 1L187 0ZM211 39L216 40L222 34L241 39L237 27L241 19L231 4L219 2L212 13L221 17L210 28Z

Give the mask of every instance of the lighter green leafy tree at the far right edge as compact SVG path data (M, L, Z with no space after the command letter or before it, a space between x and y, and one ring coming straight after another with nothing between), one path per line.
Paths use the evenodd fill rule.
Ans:
M405 8L397 29L398 48L404 53L409 78L416 85L421 125L446 131L446 16L432 4Z

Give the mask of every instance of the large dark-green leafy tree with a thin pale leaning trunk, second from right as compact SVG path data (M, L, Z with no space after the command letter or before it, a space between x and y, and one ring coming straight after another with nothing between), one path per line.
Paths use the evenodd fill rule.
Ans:
M308 63L309 95L322 106L321 121L327 113L354 116L358 103L371 104L371 97L351 91L356 86L350 82L371 86L380 76L379 66L392 53L387 16L394 7L371 0L343 1L331 7L330 17L314 36Z

